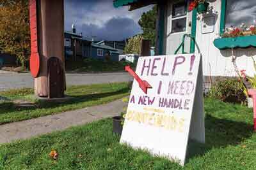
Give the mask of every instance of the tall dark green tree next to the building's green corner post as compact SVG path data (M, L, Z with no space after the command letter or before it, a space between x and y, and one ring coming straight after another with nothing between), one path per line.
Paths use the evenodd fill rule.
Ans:
M139 25L143 30L143 38L149 39L152 46L156 45L156 20L157 6L154 6L152 10L143 13L139 20Z

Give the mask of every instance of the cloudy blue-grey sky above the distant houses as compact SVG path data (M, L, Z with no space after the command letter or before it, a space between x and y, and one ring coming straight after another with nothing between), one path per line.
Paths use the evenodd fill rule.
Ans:
M71 31L74 23L76 32L82 32L86 38L97 36L99 41L130 38L142 32L138 20L152 6L128 9L128 6L114 8L113 0L65 0L65 31Z

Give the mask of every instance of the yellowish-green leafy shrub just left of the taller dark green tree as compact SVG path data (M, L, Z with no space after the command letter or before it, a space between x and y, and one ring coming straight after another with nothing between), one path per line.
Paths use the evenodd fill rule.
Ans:
M128 40L127 45L124 48L124 53L136 53L140 54L142 36L139 34Z

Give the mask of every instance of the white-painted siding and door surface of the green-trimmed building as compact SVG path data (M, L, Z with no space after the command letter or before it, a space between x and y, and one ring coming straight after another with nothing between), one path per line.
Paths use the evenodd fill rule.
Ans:
M170 1L171 3L171 1ZM170 3L169 6L170 6ZM196 23L196 42L200 47L200 51L203 57L203 71L205 76L236 76L234 66L232 64L231 50L219 50L213 44L214 39L220 36L220 15L221 15L221 0L212 1L210 6L213 7L216 14L208 13L205 15L198 15ZM169 7L170 8L170 7ZM225 11L223 11L225 12ZM214 15L214 32L202 34L202 24L204 20L202 18ZM189 14L189 20L191 21L191 13ZM166 15L166 54L172 54L177 45L180 43L179 38L168 38L168 28L170 28L170 14ZM187 45L189 41L187 42ZM186 52L188 52L186 48ZM245 69L246 74L253 76L255 70L253 67L253 61L250 56L256 55L256 48L235 49L234 55L237 56L238 69Z

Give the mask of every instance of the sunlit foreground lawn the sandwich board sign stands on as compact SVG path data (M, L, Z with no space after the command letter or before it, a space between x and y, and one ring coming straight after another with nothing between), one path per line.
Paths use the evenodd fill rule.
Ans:
M205 99L205 112L206 144L189 152L184 168L120 145L106 119L1 145L0 169L256 169L252 110ZM58 160L49 158L52 149L58 151Z

